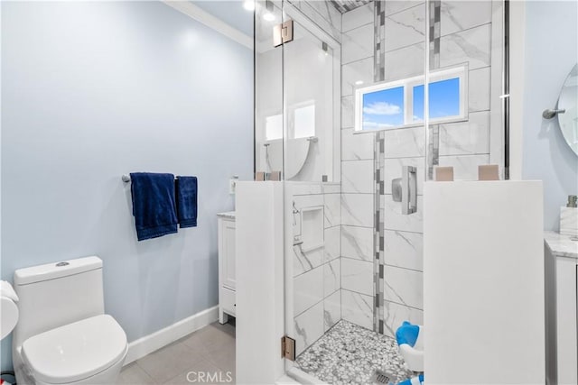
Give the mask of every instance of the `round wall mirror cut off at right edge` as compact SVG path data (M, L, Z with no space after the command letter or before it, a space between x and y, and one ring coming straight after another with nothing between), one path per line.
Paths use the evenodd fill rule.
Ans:
M578 155L578 64L574 65L560 91L558 109L565 110L564 114L558 114L560 130L572 151Z

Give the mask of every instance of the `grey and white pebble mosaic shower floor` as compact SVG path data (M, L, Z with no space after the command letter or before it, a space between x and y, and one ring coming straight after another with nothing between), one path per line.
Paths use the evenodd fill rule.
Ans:
M332 384L368 384L376 370L394 382L413 376L395 339L344 320L299 355L295 365Z

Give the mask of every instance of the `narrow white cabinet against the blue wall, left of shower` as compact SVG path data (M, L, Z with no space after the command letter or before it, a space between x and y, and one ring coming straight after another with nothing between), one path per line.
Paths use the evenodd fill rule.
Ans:
M219 213L219 323L236 315L235 212Z

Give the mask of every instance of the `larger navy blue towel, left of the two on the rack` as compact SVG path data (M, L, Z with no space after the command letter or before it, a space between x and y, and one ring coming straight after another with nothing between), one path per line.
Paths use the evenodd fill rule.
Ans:
M150 172L130 174L135 215L136 236L139 241L177 232L174 205L174 176Z

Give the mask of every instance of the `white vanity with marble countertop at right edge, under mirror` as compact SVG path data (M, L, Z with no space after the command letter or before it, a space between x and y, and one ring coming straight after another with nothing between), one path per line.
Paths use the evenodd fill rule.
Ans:
M546 329L551 332L546 348L555 356L549 371L548 384L567 385L578 383L578 313L576 308L578 282L578 243L568 235L546 233L546 265L553 266L549 273L551 294L546 295L548 308ZM555 305L555 307L551 307ZM549 324L549 325L548 325Z

